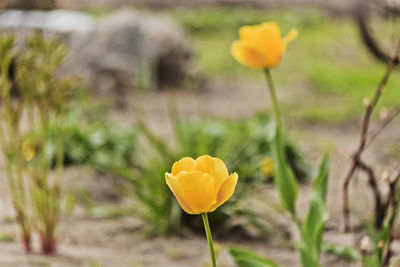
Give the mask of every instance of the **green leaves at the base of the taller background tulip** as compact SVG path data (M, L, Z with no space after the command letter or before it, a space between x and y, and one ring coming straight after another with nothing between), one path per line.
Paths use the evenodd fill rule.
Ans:
M308 213L303 221L297 217L297 181L294 178L290 165L286 161L284 153L284 136L279 127L276 128L274 139L274 155L276 160L275 184L279 191L279 196L284 209L289 211L296 224L301 237L301 243L297 246L300 261L304 267L318 267L319 257L322 250L322 235L324 226L328 220L326 209L326 192L328 184L328 162L327 156L324 157L320 168L312 185L312 195L309 203ZM258 256L247 254L247 257L255 260ZM237 257L235 261L238 262ZM239 258L240 259L240 258ZM251 264L251 263L249 263ZM253 266L253 265L243 265ZM258 265L254 265L258 266ZM263 266L263 265L260 265Z

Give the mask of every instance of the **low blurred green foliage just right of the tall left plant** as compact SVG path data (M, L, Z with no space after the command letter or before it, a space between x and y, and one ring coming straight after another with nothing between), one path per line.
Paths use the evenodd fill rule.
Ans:
M134 165L136 136L134 128L121 130L109 123L79 125L75 119L65 126L64 165L91 165L99 169ZM31 133L35 135L36 133ZM54 166L57 155L57 129L48 130L49 164ZM27 137L29 138L29 136Z

